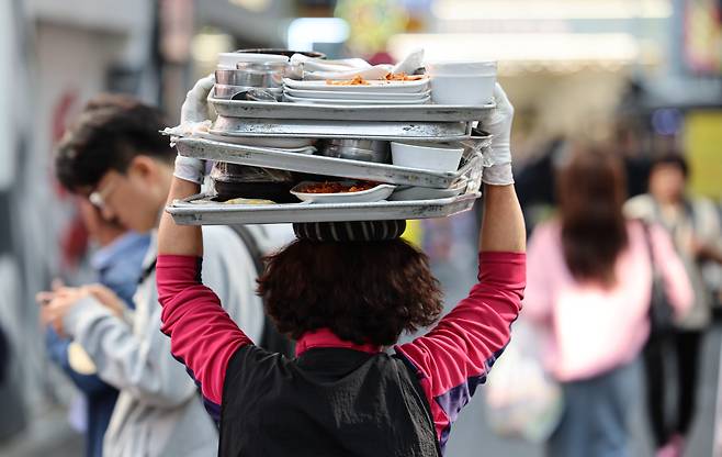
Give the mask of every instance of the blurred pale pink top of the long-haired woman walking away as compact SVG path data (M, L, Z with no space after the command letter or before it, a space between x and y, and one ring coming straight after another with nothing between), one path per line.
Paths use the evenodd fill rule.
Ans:
M561 226L534 230L528 250L524 317L543 335L546 369L559 380L589 378L633 360L650 334L652 268L644 227L628 223L629 245L614 267L617 285L605 289L579 282L566 266ZM656 268L677 315L693 302L693 291L669 236L651 226Z

